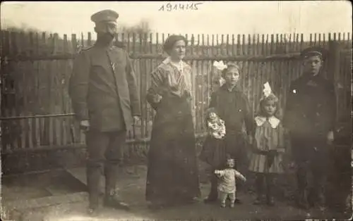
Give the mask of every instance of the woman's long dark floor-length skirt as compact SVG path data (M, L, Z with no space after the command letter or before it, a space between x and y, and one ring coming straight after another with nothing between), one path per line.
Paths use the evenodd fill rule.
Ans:
M146 200L176 203L200 196L190 101L164 96L153 122Z

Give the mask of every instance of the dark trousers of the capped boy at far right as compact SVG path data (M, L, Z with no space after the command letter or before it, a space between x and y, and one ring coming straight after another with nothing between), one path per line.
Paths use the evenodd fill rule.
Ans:
M297 164L299 200L323 206L330 168L325 138L292 139L292 153Z

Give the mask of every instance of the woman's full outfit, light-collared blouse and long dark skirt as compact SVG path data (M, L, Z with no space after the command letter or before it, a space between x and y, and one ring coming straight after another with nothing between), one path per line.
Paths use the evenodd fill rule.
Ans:
M191 111L191 68L164 61L152 73L148 102L156 110L148 153L146 200L178 203L200 195ZM162 97L158 101L158 96Z

